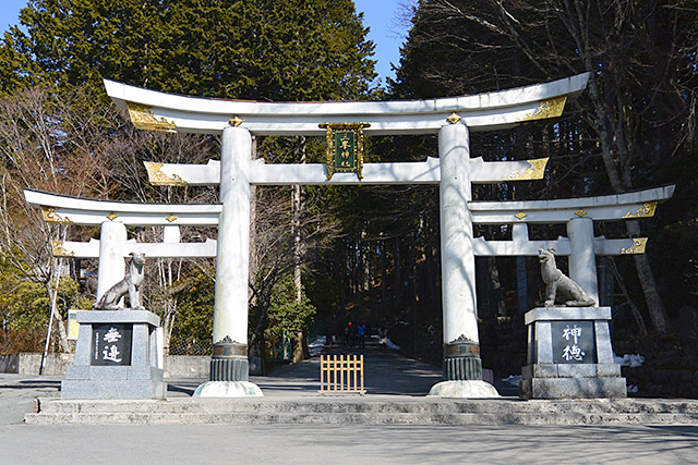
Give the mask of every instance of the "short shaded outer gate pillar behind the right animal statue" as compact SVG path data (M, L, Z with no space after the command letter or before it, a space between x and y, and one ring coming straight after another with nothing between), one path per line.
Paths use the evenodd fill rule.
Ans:
M569 278L587 295L599 303L599 283L597 280L597 256L593 249L593 220L575 218L567 223L567 235L571 253L569 254Z

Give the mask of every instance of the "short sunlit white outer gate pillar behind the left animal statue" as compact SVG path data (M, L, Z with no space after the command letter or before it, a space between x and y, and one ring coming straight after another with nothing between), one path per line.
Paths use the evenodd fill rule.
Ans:
M125 276L123 246L127 228L118 221L101 223L99 234L99 268L97 270L97 301ZM123 299L119 304L123 306Z

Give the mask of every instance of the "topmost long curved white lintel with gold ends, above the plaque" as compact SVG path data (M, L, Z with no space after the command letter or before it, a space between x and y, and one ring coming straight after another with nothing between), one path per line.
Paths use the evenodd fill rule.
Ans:
M589 73L472 96L428 100L262 102L224 100L148 90L104 79L107 94L128 109L139 129L218 134L241 125L255 135L322 135L326 122L368 122L372 135L433 134L461 120L471 131L492 131L559 117L579 95ZM450 118L450 120L449 120Z

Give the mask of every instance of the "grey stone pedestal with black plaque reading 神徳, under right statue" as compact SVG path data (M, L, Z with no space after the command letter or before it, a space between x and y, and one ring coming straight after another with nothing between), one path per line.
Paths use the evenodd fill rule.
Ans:
M525 315L528 365L521 399L625 397L613 360L611 307L538 307Z

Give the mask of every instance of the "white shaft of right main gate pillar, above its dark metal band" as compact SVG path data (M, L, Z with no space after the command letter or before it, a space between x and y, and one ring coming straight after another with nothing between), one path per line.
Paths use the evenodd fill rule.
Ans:
M441 268L444 343L460 335L478 342L476 258L468 160L470 136L465 124L450 124L438 132L441 167Z

